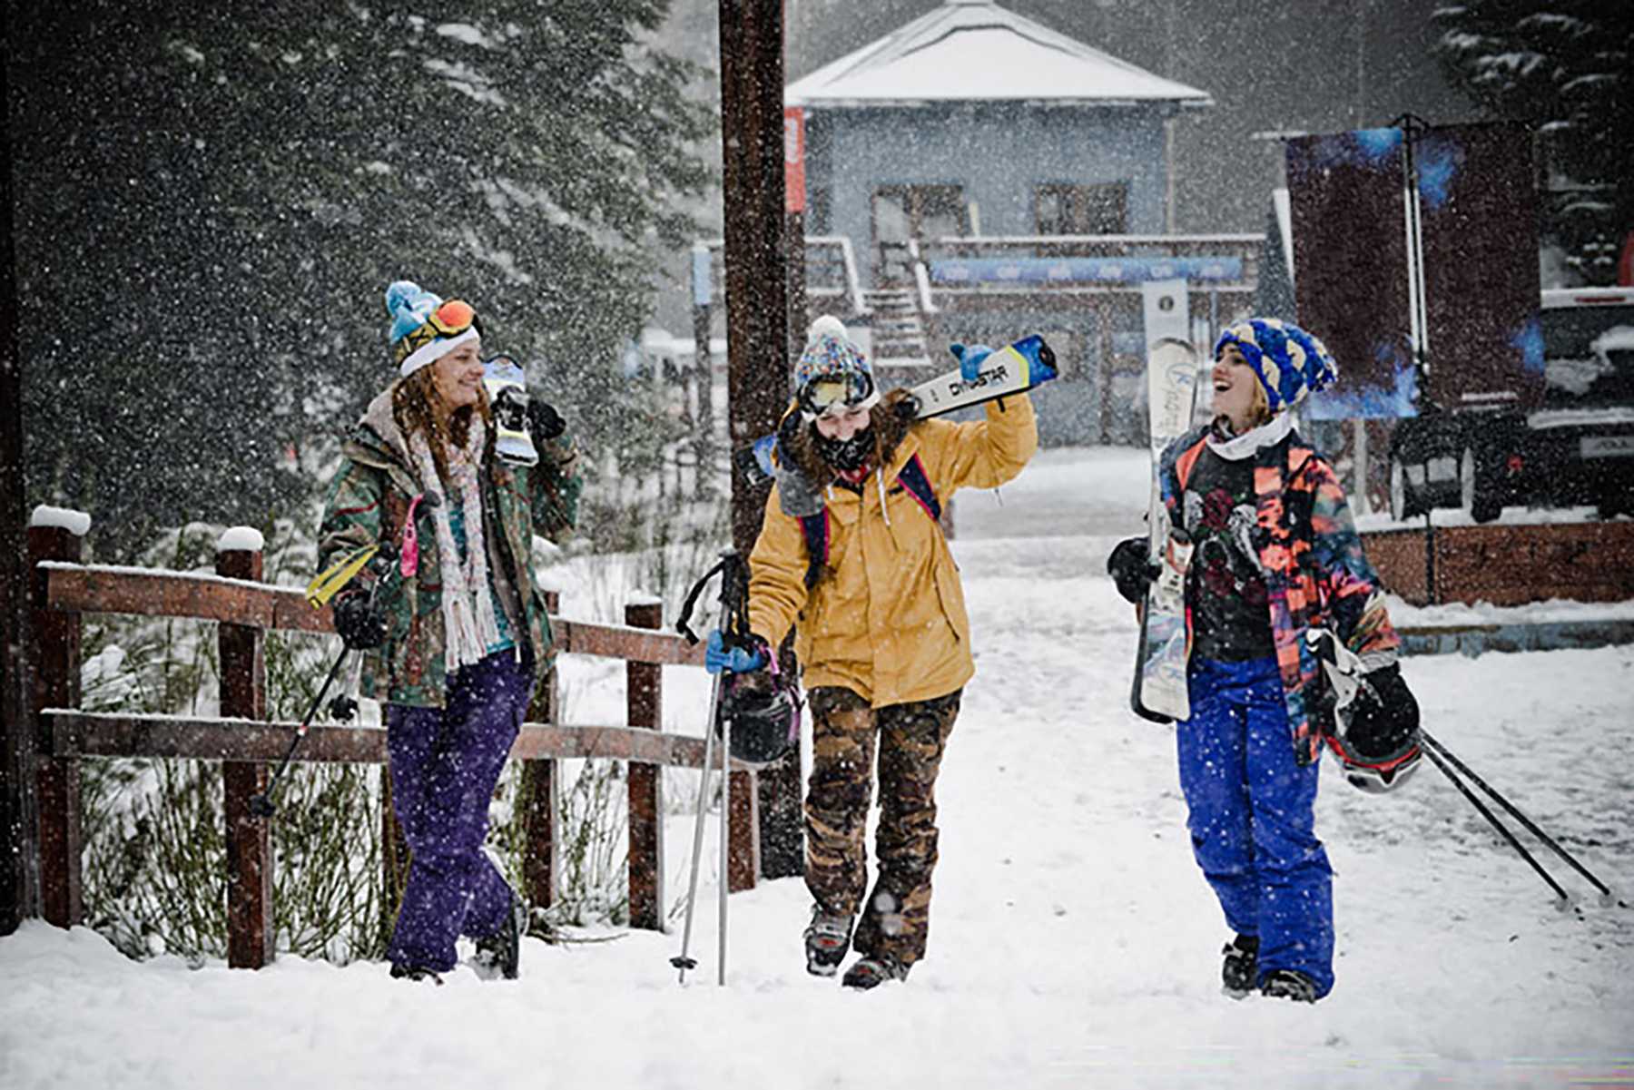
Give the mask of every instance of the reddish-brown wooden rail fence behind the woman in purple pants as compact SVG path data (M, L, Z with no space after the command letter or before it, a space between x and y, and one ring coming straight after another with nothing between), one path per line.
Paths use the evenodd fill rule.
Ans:
M217 546L216 574L167 572L80 564L83 528L38 520L28 531L33 579L34 690L29 737L36 748L39 809L39 876L47 922L83 922L80 897L78 762L88 757L168 757L222 762L227 830L227 963L261 967L271 961L271 838L268 822L250 812L250 799L266 791L270 765L289 745L296 724L266 721L266 631L333 632L327 610L314 610L294 588L261 580L261 552ZM225 546L253 544L245 536ZM562 654L601 655L627 662L629 722L557 722L556 670L528 713L510 758L523 763L526 847L523 896L534 907L556 897L557 768L564 758L629 762L629 917L637 928L663 928L660 766L699 768L703 739L662 732L663 665L701 665L703 649L654 631L660 606L644 601L624 610L626 624L587 624L557 616L546 595L556 646ZM216 621L221 650L221 716L139 716L80 711L80 614L126 613ZM386 730L314 724L296 752L299 762L386 763ZM753 771L732 773L730 889L750 889L760 873L753 835ZM389 783L382 776L382 786ZM387 796L389 797L389 796ZM384 833L405 855L391 806L382 806ZM394 853L384 853L387 864ZM389 887L389 886L387 886Z

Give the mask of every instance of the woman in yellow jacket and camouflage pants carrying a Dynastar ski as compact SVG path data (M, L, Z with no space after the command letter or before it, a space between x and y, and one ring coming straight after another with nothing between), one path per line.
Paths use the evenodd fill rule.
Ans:
M987 355L977 345L953 351L966 371ZM833 976L855 946L861 958L843 977L853 989L905 979L925 954L936 771L975 673L940 507L958 489L1005 484L1038 449L1026 394L989 402L980 422L913 420L915 412L907 391L881 397L843 327L819 319L796 368L778 484L750 556L748 619L763 646L727 650L711 636L711 667L742 673L796 629L814 750L806 966ZM876 739L879 876L864 900Z

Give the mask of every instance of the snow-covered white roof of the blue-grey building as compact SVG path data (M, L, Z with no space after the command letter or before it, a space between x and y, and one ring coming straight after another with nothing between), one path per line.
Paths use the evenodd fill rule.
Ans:
M972 78L972 74L977 75ZM1208 92L1092 49L992 0L946 0L907 26L789 83L784 101L807 108L941 101L1214 105Z

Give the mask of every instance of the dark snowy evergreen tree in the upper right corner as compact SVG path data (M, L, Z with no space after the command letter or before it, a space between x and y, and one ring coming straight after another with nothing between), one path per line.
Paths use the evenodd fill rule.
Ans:
M1544 232L1592 284L1634 232L1634 5L1467 0L1436 10L1448 78L1542 136Z

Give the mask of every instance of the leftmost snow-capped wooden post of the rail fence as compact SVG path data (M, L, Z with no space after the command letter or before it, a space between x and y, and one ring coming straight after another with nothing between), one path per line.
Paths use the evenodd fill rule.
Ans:
M52 757L44 708L80 706L80 614L46 606L46 572L41 561L80 561L80 538L90 518L44 516L41 508L28 528L29 628L38 659L31 693L31 753L39 807L39 900L47 923L74 927L85 920L80 894L80 765L72 757Z

